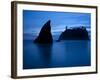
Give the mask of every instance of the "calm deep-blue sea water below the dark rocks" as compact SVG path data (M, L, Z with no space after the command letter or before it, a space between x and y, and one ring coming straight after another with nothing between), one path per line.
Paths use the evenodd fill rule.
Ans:
M23 69L77 67L91 65L90 41L54 41L53 44L35 44L23 41Z

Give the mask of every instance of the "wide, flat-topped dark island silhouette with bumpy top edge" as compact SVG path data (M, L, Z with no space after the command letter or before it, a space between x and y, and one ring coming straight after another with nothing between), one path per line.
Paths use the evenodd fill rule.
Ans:
M89 40L85 27L67 29L61 33L58 41L61 40Z

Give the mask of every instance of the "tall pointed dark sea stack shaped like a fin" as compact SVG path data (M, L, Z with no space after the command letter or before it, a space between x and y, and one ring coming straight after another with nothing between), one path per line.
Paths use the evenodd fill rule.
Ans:
M51 21L49 20L43 25L38 37L34 40L35 43L52 43L53 42L50 22Z

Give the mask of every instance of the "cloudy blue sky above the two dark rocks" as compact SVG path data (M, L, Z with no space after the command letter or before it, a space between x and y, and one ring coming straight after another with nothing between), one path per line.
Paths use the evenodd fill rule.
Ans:
M57 34L68 28L85 26L88 30L91 25L90 13L52 12L23 10L23 31L27 34L37 35L42 26L51 20L51 32Z

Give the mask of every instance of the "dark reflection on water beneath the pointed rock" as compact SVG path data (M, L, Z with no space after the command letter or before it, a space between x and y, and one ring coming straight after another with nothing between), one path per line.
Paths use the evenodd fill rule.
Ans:
M51 59L51 51L52 51L52 44L35 44L37 47L38 53L41 56L41 60L43 61L43 67L48 67L50 66L50 59Z

